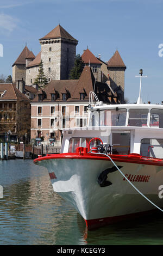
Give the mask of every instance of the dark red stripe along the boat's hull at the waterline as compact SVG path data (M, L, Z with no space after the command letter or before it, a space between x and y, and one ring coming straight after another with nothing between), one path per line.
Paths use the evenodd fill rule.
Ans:
M143 215L153 214L154 212L158 211L157 209L143 211L143 212L136 212L135 214L127 214L115 217L108 217L108 218L96 218L94 220L85 220L86 227L88 230L92 230L95 228L103 227L105 225L121 222L124 220L131 220L133 218L139 218Z

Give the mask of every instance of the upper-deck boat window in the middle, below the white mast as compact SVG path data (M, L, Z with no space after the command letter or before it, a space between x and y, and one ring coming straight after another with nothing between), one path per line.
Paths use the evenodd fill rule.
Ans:
M129 109L128 126L147 126L148 109Z

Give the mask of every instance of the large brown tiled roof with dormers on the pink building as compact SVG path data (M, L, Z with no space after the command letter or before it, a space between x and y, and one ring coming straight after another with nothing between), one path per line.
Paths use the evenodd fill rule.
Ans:
M66 102L80 101L80 93L85 94L85 98L82 101L89 101L89 93L93 92L94 86L95 93L99 100L107 103L115 103L113 98L115 98L116 95L112 94L106 83L95 83L95 78L89 66L84 67L79 80L52 80L45 88L37 92L33 102L39 101L39 94L44 94L46 96L42 100L43 102L52 101L51 94L57 94L58 97L55 102L64 102L62 100L62 93L68 94Z

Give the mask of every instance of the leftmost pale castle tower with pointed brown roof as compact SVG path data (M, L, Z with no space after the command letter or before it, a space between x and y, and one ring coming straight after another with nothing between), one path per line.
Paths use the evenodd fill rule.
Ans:
M29 55L30 51L27 46L24 47L20 56L16 59L12 65L12 82L16 83L18 80L26 81L26 58Z

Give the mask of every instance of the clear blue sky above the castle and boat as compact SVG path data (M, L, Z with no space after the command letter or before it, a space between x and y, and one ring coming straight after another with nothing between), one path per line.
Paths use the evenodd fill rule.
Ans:
M124 63L125 97L139 96L139 70L143 69L142 100L163 101L163 0L0 0L0 75L12 75L11 65L26 45L36 55L39 38L59 23L78 42L77 53L88 46L103 61L118 48ZM162 51L163 53L163 51Z

